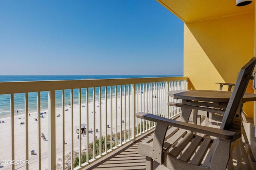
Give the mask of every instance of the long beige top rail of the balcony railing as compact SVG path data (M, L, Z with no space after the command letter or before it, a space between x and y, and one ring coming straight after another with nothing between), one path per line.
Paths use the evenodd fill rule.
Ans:
M52 80L26 82L0 82L0 94L14 94L24 92L41 92L49 90L63 90L76 88L90 88L101 86L116 86L123 84L138 84L161 81L187 80L187 77L153 77L153 78L117 78L117 79L89 79L89 80Z

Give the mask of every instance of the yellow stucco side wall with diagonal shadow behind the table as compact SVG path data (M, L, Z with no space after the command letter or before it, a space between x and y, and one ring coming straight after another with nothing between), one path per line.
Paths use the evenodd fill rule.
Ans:
M184 76L189 88L218 90L215 82L235 83L254 56L254 13L184 23ZM254 93L252 82L246 92ZM253 118L253 102L244 111Z

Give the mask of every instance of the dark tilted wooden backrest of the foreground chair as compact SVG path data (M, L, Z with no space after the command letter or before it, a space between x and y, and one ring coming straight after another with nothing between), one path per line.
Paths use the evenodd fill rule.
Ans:
M252 78L252 72L256 63L256 57L253 57L247 64L245 64L240 72L238 73L236 84L230 96L228 106L224 113L220 129L230 129L232 126L233 119L239 111L242 97L244 96L245 90Z

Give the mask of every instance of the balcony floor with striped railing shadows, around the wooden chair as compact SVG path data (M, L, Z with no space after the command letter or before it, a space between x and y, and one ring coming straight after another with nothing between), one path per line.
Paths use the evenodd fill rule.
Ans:
M191 121L191 119L190 119ZM250 121L250 120L249 120ZM251 140L251 148L256 158L256 138L254 137L254 127L251 125L250 134L248 134L248 139ZM149 134L153 135L152 133ZM145 139L145 138L144 138ZM143 139L142 139L143 140ZM95 170L143 170L146 167L146 157L138 154L138 143L132 143L126 149L120 150L117 154L112 157L102 161L100 165L90 168ZM256 169L256 162L251 162L252 169ZM236 168L236 167L235 167ZM154 169L156 170L165 170L166 167L159 165L157 162L154 162ZM244 167L243 169L247 169Z

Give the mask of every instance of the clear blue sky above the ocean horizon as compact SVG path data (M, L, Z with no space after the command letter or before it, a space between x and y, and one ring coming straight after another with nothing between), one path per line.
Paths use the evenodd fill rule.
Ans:
M182 75L183 22L155 0L0 0L0 75Z

